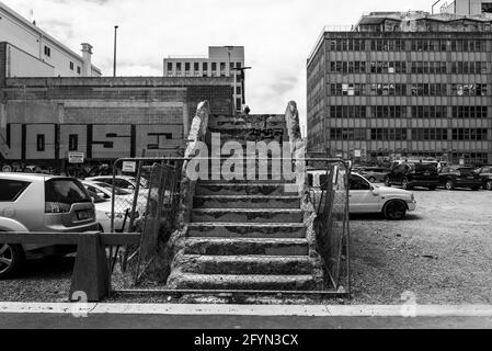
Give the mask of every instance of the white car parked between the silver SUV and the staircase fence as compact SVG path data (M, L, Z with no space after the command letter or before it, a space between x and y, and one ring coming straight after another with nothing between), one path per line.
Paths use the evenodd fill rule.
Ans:
M111 233L111 217L112 217L112 197L113 189L106 183L82 181L83 186L94 201L95 217L101 225L101 230ZM114 214L114 230L127 231L129 229L129 216L134 205L134 194L124 189L115 188L115 214ZM135 218L139 218L145 214L146 203L144 199L138 199Z

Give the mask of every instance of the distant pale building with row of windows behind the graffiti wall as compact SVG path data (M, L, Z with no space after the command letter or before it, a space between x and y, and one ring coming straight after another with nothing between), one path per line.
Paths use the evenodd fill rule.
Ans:
M241 111L244 81L238 68L244 67L243 46L209 46L208 56L169 56L164 77L234 77L234 106Z

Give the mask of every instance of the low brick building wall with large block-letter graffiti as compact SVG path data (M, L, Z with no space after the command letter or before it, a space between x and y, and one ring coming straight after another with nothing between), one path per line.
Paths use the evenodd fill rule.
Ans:
M0 170L175 156L201 101L232 113L231 78L9 78L0 95Z

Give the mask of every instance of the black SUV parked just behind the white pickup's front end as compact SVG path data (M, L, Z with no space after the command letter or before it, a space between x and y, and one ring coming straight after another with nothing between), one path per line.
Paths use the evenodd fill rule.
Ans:
M385 178L385 185L401 185L404 190L423 186L435 190L439 185L437 163L402 162Z

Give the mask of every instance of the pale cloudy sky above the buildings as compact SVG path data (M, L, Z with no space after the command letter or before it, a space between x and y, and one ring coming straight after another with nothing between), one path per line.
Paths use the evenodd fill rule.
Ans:
M284 113L291 100L306 116L306 60L324 25L350 26L369 11L424 10L434 0L0 0L113 73L162 76L170 55L207 55L208 46L245 47L251 113ZM444 2L444 1L443 1Z

